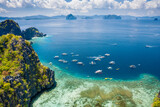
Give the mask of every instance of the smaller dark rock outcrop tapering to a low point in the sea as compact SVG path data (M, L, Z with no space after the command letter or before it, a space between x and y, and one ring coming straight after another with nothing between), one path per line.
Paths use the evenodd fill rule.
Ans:
M39 32L38 29L35 27L30 27L25 31L22 31L22 37L27 40L32 39L32 37L43 37L43 36L46 36L46 34Z

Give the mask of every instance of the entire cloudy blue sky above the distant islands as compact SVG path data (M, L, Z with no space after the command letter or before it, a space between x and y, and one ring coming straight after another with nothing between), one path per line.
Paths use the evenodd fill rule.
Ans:
M160 16L160 0L0 0L0 16Z

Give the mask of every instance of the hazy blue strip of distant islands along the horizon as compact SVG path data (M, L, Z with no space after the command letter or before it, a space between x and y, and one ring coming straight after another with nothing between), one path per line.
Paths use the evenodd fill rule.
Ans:
M0 20L47 20L47 19L67 19L67 20L75 20L75 19L123 19L123 20L154 20L160 19L160 16L129 16L129 15L76 15L69 14L65 15L57 15L57 16L44 16L44 15L34 15L34 16L24 16L24 17L3 17L0 16Z

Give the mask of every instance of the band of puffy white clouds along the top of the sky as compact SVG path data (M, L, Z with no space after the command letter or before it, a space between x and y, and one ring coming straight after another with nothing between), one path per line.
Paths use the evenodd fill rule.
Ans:
M0 0L0 4L9 8L25 8L27 6L47 8L62 11L87 12L92 9L157 9L160 8L160 0Z

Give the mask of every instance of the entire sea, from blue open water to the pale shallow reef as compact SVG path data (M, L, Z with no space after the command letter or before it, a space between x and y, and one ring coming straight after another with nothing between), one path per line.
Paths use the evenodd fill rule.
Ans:
M160 21L16 21L22 29L34 26L47 34L46 37L33 38L32 47L40 61L55 71L57 81L56 88L33 99L33 107L94 107L97 104L104 107L149 107L152 104L160 89ZM105 56L106 53L110 56ZM59 62L54 56L68 62ZM96 58L100 61L95 61ZM72 62L73 59L83 65ZM90 64L91 61L96 64ZM110 61L115 64L109 64ZM130 65L136 68L132 69ZM95 73L97 70L102 72ZM90 95L96 91L97 94L86 95L87 90ZM102 97L102 94L106 96ZM116 99L118 95L121 100Z

